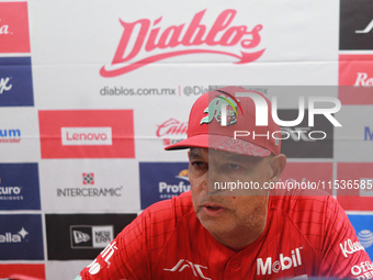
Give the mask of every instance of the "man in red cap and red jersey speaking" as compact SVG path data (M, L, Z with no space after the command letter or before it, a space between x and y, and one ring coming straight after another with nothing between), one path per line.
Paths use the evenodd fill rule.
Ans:
M253 100L271 112L238 87L194 103L188 139L166 148L190 148L191 192L146 209L77 279L373 277L334 198L265 188L286 158L271 114L256 124Z

